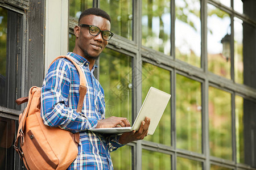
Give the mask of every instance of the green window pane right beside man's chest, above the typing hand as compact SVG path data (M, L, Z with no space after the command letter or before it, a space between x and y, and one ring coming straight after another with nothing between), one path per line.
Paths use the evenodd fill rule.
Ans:
M132 124L131 57L104 49L100 57L100 83L105 92L106 117L127 117Z

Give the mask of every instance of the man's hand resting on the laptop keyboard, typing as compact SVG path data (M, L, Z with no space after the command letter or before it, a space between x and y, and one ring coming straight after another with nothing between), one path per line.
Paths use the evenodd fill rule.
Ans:
M125 117L109 117L102 120L98 120L96 128L118 128L118 127L130 127L130 122Z

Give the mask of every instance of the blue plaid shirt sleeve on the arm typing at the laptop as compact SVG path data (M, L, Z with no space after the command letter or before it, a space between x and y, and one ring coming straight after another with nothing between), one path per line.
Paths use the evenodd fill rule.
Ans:
M41 116L44 124L52 127L59 126L74 133L96 128L96 119L85 117L84 114L67 107L70 77L71 71L68 62L64 59L57 59L49 67L41 89ZM77 88L79 91L79 87Z

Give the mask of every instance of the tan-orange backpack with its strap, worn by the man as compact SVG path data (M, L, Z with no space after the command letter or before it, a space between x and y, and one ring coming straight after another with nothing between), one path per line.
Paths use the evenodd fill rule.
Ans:
M81 113L87 91L85 76L79 65L71 58L59 56L56 59L59 58L69 59L79 71L80 87L77 112ZM41 88L34 86L30 88L28 97L16 100L17 104L26 101L28 103L23 113L19 115L19 127L14 148L27 169L67 169L77 157L79 133L72 134L70 131L58 127L44 125L40 116L40 97Z

